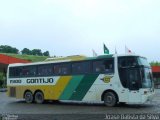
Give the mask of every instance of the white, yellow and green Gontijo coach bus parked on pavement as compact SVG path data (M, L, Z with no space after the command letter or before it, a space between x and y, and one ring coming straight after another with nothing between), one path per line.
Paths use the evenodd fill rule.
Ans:
M138 55L66 57L10 64L8 96L27 103L44 100L143 104L154 95L151 67Z

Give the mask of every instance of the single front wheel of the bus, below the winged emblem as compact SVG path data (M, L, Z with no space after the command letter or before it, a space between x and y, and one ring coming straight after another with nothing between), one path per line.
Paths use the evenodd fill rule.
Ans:
M104 104L108 107L113 107L117 104L117 97L113 92L106 92L104 94Z

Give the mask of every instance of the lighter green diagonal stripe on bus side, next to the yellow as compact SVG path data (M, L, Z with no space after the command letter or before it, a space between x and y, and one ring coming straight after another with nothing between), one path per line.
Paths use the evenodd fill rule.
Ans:
M63 93L60 96L60 100L68 100L71 96L72 93L74 93L75 89L83 79L84 75L76 75L71 78L69 81L68 85L64 89Z

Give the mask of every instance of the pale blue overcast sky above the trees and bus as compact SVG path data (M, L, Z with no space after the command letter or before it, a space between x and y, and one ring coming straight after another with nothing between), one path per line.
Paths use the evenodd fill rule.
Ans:
M0 45L92 56L103 43L160 61L160 0L0 0Z

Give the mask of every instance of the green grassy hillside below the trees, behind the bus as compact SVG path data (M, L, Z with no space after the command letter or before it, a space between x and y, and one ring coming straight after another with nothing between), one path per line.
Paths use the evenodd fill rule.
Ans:
M19 55L19 54L11 54L11 53L1 53L1 54L5 54L5 55L12 56L15 58L28 60L31 62L40 62L40 61L44 61L45 59L48 58L46 56L35 56L35 55Z

